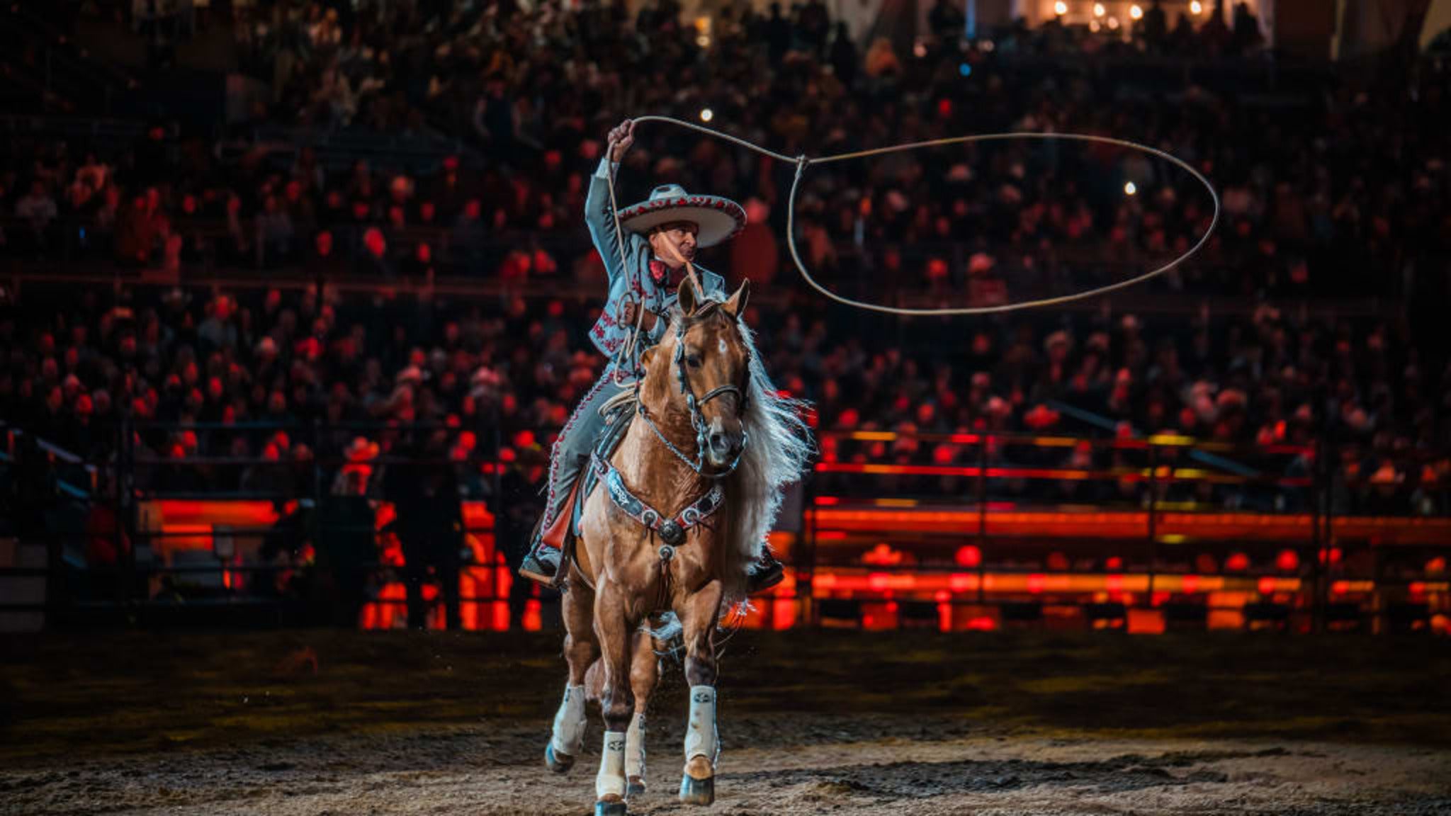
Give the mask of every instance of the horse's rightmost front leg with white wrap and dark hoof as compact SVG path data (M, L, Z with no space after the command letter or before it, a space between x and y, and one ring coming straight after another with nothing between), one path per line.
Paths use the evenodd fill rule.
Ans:
M715 626L721 614L721 582L711 581L676 610L685 627L685 680L691 684L691 719L685 729L685 774L681 801L715 801Z

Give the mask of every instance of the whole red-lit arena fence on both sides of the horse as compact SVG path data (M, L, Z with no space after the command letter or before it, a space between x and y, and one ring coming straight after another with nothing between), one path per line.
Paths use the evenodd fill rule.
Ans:
M541 457L499 462L492 430L110 433L113 453L87 463L6 428L6 627L390 629L408 624L411 589L415 624L557 619L557 598L511 568ZM237 438L266 453L229 456ZM731 624L1447 632L1445 453L988 431L820 441L772 534L786 581ZM457 513L453 492L411 489L424 478L457 492Z

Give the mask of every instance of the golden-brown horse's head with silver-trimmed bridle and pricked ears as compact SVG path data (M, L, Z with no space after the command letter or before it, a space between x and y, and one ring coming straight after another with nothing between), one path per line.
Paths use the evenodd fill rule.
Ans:
M654 409L692 415L694 401L701 459L715 470L730 469L746 444L750 353L737 318L749 295L749 282L726 302L701 299L689 280L681 283L670 328L641 357Z

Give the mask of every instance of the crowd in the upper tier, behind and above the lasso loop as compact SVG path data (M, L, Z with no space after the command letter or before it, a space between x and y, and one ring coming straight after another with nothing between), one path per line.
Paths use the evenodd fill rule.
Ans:
M1326 78L1267 103L1258 55L1222 57L1251 70L1241 90L1159 87L1162 73L1109 70L1158 49L1148 25L1129 41L1049 25L959 45L945 12L933 17L940 38L898 52L887 39L853 42L820 1L789 15L727 7L699 38L673 4L636 19L621 9L239 9L238 35L273 91L254 123L444 132L461 150L415 167L338 167L306 135L286 152L257 142L239 155L219 151L212 134L164 126L135 144L20 138L0 164L0 213L12 216L4 251L91 253L176 274L588 274L580 211L602 134L630 113L698 119L702 109L788 155L995 131L1104 134L1168 150L1223 197L1222 229L1200 263L1162 283L1170 290L1387 293L1451 240L1444 70L1396 93ZM1229 54L1242 39L1207 23L1174 36L1196 44L1164 46L1175 54ZM750 203L762 228L727 263L770 280L794 168L653 128L621 170L622 192L679 181ZM1129 183L1138 195L1123 193ZM891 280L984 302L1158 266L1187 250L1212 212L1203 189L1168 164L1040 142L811 168L797 209L808 263L843 289Z

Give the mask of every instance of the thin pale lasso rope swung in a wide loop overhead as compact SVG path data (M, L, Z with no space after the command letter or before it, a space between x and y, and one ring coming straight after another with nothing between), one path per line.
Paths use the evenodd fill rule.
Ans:
M797 166L797 176L791 181L791 197L786 199L786 247L791 248L791 260L797 264L797 272L801 273L801 277L805 279L807 285L810 285L813 289L815 289L821 295L826 295L831 301L836 301L837 303L843 303L843 305L847 305L847 306L855 306L858 309L868 309L868 311L874 311L874 312L882 312L882 314L888 314L888 315L905 315L905 317L988 315L988 314L1001 314L1001 312L1016 312L1019 309L1033 309L1033 308L1039 308L1039 306L1058 306L1058 305L1062 305L1062 303L1072 303L1075 301L1085 301L1088 298L1097 298L1098 295L1107 295L1109 292L1116 292L1116 290L1123 289L1126 286L1133 286L1135 283L1142 283L1145 280L1158 277L1158 276L1161 276L1161 274L1164 274L1164 273L1167 273L1167 272L1170 272L1170 270L1181 266L1184 261L1187 261L1194 254L1197 254L1204 247L1204 244L1209 242L1210 235L1214 234L1214 228L1219 227L1219 209L1220 209L1219 208L1219 193L1214 192L1214 186L1210 184L1209 179L1206 179L1199 170L1194 170L1185 161L1180 160L1178 157L1175 157L1172 154L1164 152L1162 150L1152 148L1152 147L1148 147L1148 145L1140 145L1138 142L1130 142L1127 139L1116 139L1113 136L1093 136L1093 135L1088 135L1088 134L1035 134L1035 132L978 134L978 135L969 135L969 136L948 136L948 138L930 139L930 141L924 141L924 142L910 142L910 144L901 144L901 145L892 145L892 147L881 147L881 148L874 148L874 150L859 150L859 151L853 151L853 152L839 152L839 154L834 154L834 155L823 155L820 158L810 158L810 157L807 157L804 154L792 158L789 155L784 155L784 154L779 154L776 151L766 150L766 148L763 148L760 145L747 142L746 139L741 139L739 136L733 136L730 134L723 134L720 131L712 131L711 128L705 128L705 126L696 125L694 122L685 122L682 119L675 119L672 116L653 116L653 115L651 116L640 116L640 118L634 119L634 122L636 123L640 123L640 122L666 122L666 123L670 123L670 125L679 125L681 128L686 128L686 129L691 129L691 131L698 131L698 132L705 134L708 136L714 136L714 138L718 138L718 139L726 139L728 142L740 145L740 147L743 147L746 150L756 151L756 152L759 152L762 155L775 158L778 161L785 161L788 164L794 163ZM1193 176L1194 180L1197 180L1200 184L1203 184L1206 190L1209 190L1209 196L1214 202L1214 216L1210 219L1209 228L1199 238L1199 241L1196 241L1194 245L1188 248L1188 251L1185 251L1184 254L1178 256L1177 258L1171 260L1170 263L1167 263L1167 264L1164 264L1164 266L1161 266L1158 269L1149 270L1149 272L1146 272L1143 274L1139 274L1136 277L1130 277L1127 280L1119 280L1116 283L1109 283L1106 286L1098 286L1096 289L1085 289L1082 292L1074 292L1072 295L1061 295L1058 298L1040 298L1037 301L1022 301L1022 302L1017 302L1017 303L1003 303L1003 305L997 305L997 306L952 306L952 308L937 308L937 309L911 309L911 308L904 308L904 306L885 306L882 303L868 303L865 301L855 301L852 298L844 298L842 295L837 295L836 292L831 292L830 289L827 289L827 287L821 286L820 283L817 283L815 277L811 276L811 272L807 270L805 263L801 261L801 254L797 251L797 229L795 229L795 222L797 222L797 192L801 187L801 177L805 174L807 167L810 167L811 164L830 164L833 161L850 161L853 158L866 158L866 157L871 157L871 155L884 155L884 154L889 154L889 152L903 152L903 151L908 151L908 150L921 150L921 148L929 148L929 147L943 147L943 145L972 144L972 142L1010 141L1010 139L1036 139L1036 141L1062 139L1062 141L1074 141L1074 142L1093 142L1093 144L1106 144L1106 145L1122 147L1122 148L1135 150L1135 151L1139 151L1139 152L1146 152L1149 155L1155 155L1158 158L1162 158L1162 160L1168 161L1170 164L1174 164L1175 167L1180 167L1181 170L1184 170L1185 173L1188 173L1190 176ZM605 154L607 160L612 158L611 154L614 152L614 147L615 147L615 142L611 141L609 147L607 148L607 154ZM620 208L615 205L615 171L614 171L614 161L609 163L609 211L611 211L611 213L614 213L614 221L615 221L615 242L620 247L620 266L621 266L622 272L625 274L628 274L628 269L625 269L625 266L627 266L628 261L625 260L624 229L620 227ZM666 244L669 245L669 241L666 241ZM672 245L670 250L675 250L675 247ZM691 280L695 283L696 290L699 290L699 282L695 279L695 267L692 267L689 261L686 261L685 258L682 258L678 251L675 253L675 257L676 257L678 261L681 261L681 263L685 264L686 272L691 276ZM636 347L636 338L638 337L640 327L643 325L644 303L640 303L638 308L637 308L637 311L638 311L638 314L636 315L636 328L634 328L634 331L631 331L628 340L624 344L621 344L620 353L615 357L615 364L617 366L621 362L621 359L624 359L624 356L627 356L627 354L630 356L630 359L633 359L633 351L634 351L634 347ZM628 348L628 351L627 351L627 348Z

